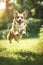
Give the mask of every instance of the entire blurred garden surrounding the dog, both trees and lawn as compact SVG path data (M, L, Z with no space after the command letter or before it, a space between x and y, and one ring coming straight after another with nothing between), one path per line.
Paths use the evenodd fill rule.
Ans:
M13 10L28 10L26 35L10 44ZM0 65L43 65L43 0L0 0Z

